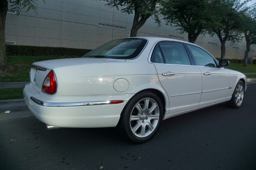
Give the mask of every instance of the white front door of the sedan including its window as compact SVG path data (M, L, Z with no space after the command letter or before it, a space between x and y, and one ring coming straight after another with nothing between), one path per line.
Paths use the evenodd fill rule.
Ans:
M219 68L215 59L206 51L193 45L187 45L203 79L202 96L199 107L221 102L226 99L229 89L229 75Z

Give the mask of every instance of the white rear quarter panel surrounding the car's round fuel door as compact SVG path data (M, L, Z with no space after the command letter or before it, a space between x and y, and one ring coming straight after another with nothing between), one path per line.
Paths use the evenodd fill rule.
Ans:
M148 87L161 87L154 65L145 62L97 63L53 70L58 83L57 93L61 95L135 94ZM113 87L116 79L126 79L128 89L116 91Z

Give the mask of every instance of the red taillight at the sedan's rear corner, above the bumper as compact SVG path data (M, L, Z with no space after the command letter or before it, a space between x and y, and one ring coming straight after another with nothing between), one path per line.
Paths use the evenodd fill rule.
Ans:
M44 79L44 83L42 86L42 92L47 93L47 94L54 94L56 92L57 88L57 82L55 79L55 75L53 71L50 71L47 74L47 77Z

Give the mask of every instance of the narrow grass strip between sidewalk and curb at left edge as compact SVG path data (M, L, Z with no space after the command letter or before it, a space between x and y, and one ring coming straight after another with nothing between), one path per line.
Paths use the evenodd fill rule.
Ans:
M0 88L0 100L23 99L22 88Z

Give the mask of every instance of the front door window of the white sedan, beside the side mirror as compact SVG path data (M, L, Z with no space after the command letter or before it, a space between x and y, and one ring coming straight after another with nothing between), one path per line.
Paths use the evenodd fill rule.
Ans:
M195 58L195 64L198 66L216 67L215 60L206 51L193 45L187 45Z

